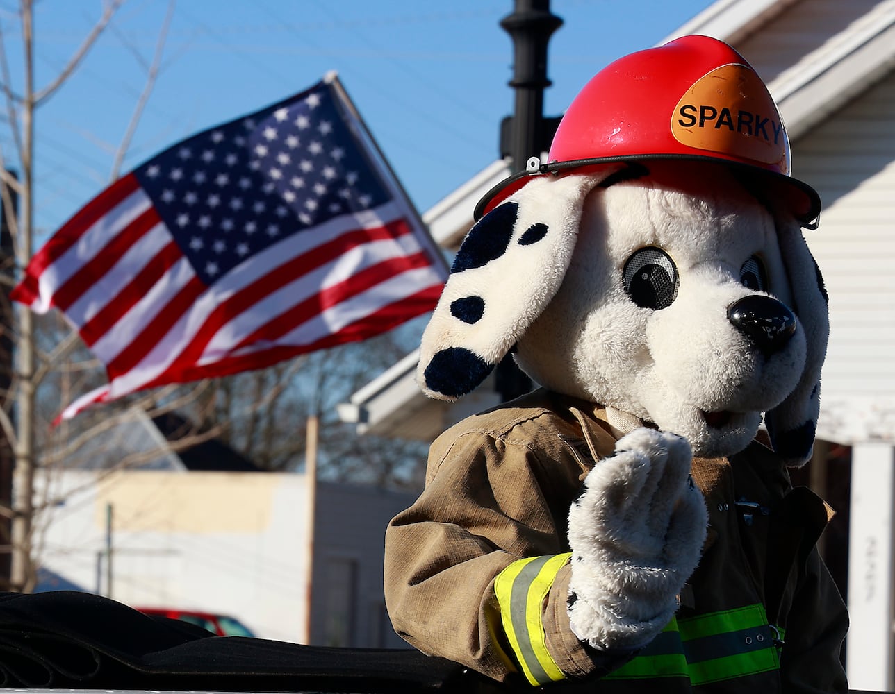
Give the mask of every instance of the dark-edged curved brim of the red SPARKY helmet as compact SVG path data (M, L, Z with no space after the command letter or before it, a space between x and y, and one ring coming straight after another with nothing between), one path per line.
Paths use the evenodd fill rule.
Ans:
M755 192L779 202L807 229L817 228L817 218L821 214L821 197L805 182L797 178L760 168L755 165L737 161L723 160L718 157L700 157L691 154L651 154L642 156L599 157L593 159L575 159L566 162L550 162L542 164L537 171L521 171L507 176L503 181L491 188L482 196L475 206L473 217L476 221L488 214L505 199L527 182L538 176L564 174L590 174L609 166L619 164L636 164L648 161L677 159L684 161L704 162L712 166L725 166L732 169L740 179Z

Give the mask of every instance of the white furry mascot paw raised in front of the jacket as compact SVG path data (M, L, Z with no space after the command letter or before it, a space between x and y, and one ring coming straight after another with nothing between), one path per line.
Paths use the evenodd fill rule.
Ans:
M568 615L578 639L642 647L671 619L705 540L691 461L686 439L639 428L584 479L568 514Z

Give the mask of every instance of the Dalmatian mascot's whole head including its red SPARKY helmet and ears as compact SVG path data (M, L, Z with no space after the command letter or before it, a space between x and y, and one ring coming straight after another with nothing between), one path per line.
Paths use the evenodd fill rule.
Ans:
M650 89L638 69L662 94L612 112L605 95ZM663 128L646 127L655 113ZM627 56L576 97L550 159L480 205L423 335L423 390L455 399L514 351L619 428L652 422L728 455L764 413L781 457L807 460L828 328L800 222L819 201L788 176L786 132L748 64L705 37Z

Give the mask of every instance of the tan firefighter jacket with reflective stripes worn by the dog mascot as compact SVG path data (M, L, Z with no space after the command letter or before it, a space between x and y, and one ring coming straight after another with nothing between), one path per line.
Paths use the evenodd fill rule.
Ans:
M425 490L386 535L396 631L520 690L554 681L594 692L848 690L848 617L814 547L831 512L792 489L757 442L693 462L710 527L665 631L636 654L575 638L567 512L594 461L613 452L604 414L541 390L439 436Z

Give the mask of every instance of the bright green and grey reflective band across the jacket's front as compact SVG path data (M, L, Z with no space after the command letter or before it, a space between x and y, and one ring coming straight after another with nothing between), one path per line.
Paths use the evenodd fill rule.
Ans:
M672 619L633 660L608 679L687 677L694 685L780 667L762 605Z

